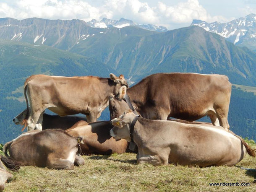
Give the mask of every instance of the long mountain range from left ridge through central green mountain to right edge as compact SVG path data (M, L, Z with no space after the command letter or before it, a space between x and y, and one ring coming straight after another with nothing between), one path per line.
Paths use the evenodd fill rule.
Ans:
M115 25L129 20L102 21ZM157 32L132 25L95 28L81 20L2 18L0 28L0 39L81 54L124 73L132 81L142 74L196 72L226 74L232 83L256 85L256 54L199 26Z

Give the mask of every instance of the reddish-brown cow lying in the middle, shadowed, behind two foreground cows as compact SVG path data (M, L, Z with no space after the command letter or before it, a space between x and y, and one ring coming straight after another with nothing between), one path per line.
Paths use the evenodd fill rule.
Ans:
M80 144L83 155L125 153L128 143L124 139L117 141L112 138L110 136L112 127L110 121L89 124L85 121L79 121L66 132L74 137L84 137L83 143Z

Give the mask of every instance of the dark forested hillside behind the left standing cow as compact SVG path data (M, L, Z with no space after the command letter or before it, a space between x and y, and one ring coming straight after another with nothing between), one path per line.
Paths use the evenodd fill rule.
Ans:
M110 73L116 72L100 62L78 54L48 46L0 40L0 143L21 133L12 119L26 107L23 102L24 81L30 75L40 73L109 77Z

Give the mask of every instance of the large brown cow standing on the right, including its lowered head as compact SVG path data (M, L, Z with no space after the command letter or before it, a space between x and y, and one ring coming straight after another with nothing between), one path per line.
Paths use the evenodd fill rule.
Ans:
M225 75L196 73L157 73L149 75L117 95L110 95L110 118L119 117L130 97L133 108L147 119L166 120L168 117L194 121L209 115L212 124L229 129L227 114L231 83Z

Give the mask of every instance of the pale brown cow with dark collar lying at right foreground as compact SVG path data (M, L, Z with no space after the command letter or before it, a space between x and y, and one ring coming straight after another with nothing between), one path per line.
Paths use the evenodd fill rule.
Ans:
M255 149L223 127L149 120L137 117L131 109L111 122L115 127L110 135L115 139L129 142L133 134L138 146L138 163L233 166L243 159L246 151L250 156L256 155Z

